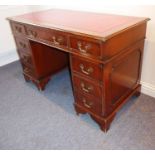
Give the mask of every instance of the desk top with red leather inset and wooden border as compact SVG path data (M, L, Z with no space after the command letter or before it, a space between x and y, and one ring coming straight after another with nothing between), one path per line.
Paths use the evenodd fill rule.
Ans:
M9 20L92 36L103 41L149 18L51 9L10 17Z

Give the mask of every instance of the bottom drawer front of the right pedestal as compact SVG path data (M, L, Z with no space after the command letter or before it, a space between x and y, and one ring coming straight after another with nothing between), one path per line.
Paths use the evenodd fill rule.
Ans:
M101 101L97 101L95 98L75 92L76 104L79 104L83 108L91 111L97 115L102 114Z

